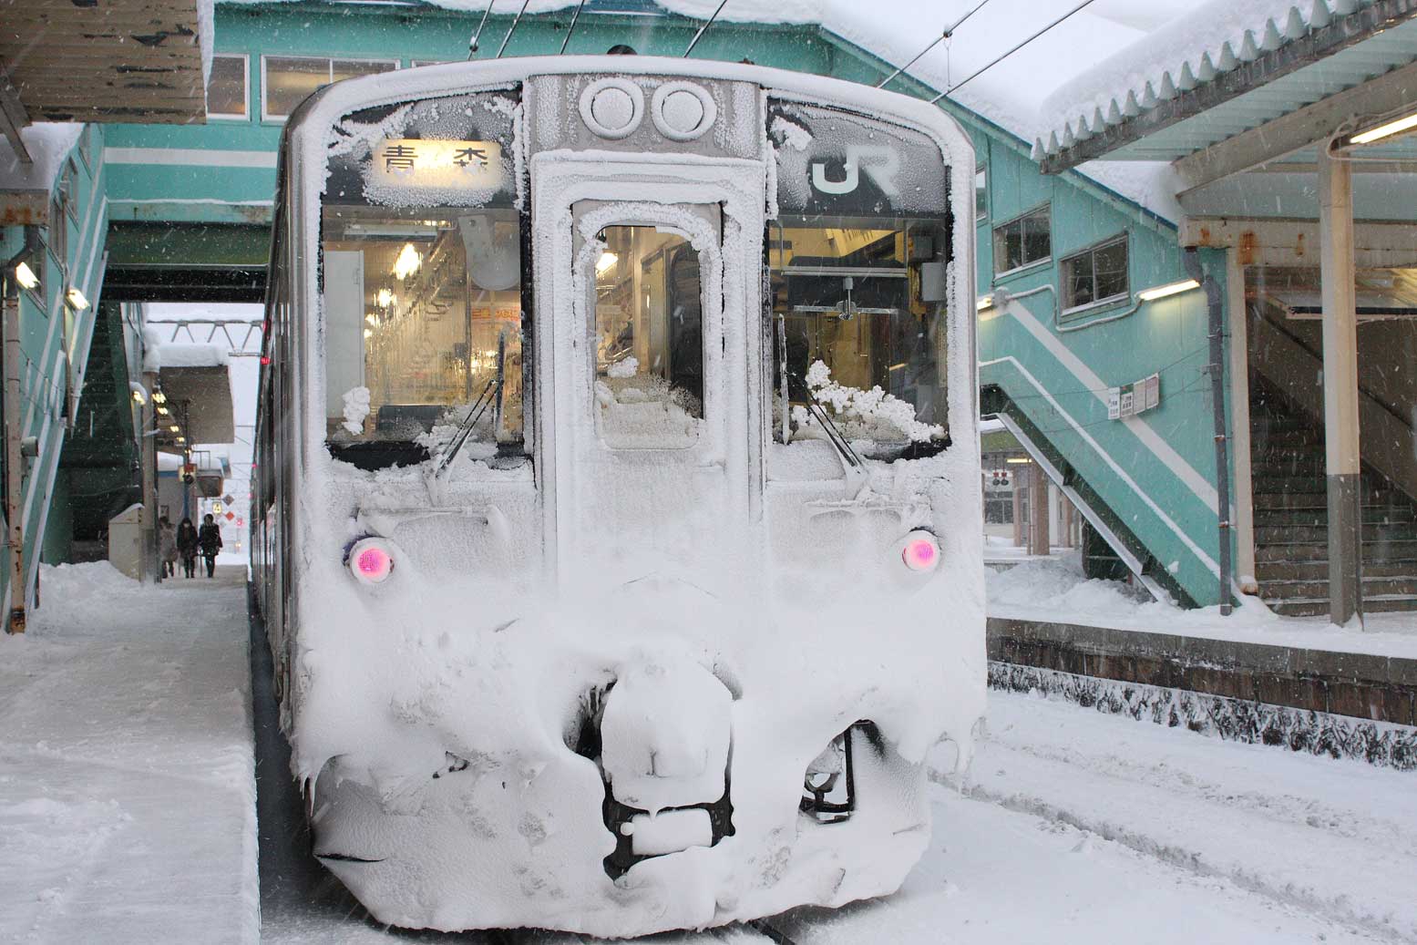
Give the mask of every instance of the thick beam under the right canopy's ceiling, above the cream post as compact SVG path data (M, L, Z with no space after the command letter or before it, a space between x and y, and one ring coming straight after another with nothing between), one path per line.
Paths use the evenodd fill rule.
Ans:
M1214 181L1282 159L1338 135L1362 115L1384 115L1411 105L1417 62L1343 89L1272 122L1216 142L1173 162L1182 181L1179 197Z

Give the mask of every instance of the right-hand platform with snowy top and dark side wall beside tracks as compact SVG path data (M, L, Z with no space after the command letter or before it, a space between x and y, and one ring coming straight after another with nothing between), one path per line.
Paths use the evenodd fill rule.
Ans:
M1063 558L989 574L989 683L1223 738L1417 769L1417 615L1365 629L1182 611Z

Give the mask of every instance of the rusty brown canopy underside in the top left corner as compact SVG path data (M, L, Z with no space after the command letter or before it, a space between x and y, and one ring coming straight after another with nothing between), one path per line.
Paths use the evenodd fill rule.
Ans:
M0 132L207 120L213 0L0 0Z

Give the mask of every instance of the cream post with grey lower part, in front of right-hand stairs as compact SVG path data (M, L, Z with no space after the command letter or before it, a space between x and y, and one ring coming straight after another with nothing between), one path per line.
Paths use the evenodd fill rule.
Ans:
M1363 616L1363 486L1357 431L1357 309L1352 166L1319 146L1319 266L1323 289L1323 445L1328 470L1329 616Z

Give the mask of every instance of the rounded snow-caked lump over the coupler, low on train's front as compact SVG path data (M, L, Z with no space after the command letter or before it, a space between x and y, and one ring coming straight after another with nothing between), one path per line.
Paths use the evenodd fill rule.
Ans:
M724 793L733 696L687 656L622 667L605 697L602 764L625 806L657 813Z

